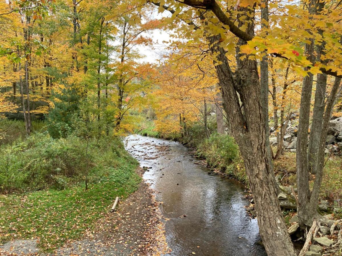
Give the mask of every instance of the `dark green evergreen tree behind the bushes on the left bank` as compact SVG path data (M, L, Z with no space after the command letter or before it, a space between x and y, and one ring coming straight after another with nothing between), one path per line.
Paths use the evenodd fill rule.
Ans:
M53 92L52 96L54 108L48 115L48 131L53 138L65 137L75 122L80 97L71 87L66 87L61 93Z

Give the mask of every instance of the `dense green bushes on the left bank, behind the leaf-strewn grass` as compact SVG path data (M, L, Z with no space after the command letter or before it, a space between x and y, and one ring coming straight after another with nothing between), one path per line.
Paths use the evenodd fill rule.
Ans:
M95 140L95 139L94 139ZM121 159L132 161L121 141L96 140L88 159L86 143L69 135L53 139L47 133L32 134L25 140L0 147L0 192L32 191L48 187L63 189L84 180L86 162L89 182L108 176Z

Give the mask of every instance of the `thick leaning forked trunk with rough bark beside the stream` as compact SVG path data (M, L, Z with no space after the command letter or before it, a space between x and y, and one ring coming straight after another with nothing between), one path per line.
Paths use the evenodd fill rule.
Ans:
M218 39L216 37L216 39ZM260 100L257 62L246 58L231 71L223 48L215 40L212 51L218 51L216 66L222 91L223 106L232 124L232 134L244 159L250 188L254 196L260 234L268 255L296 255L275 189L274 173L266 148L265 122ZM235 76L235 77L234 77ZM245 106L245 116L241 106Z

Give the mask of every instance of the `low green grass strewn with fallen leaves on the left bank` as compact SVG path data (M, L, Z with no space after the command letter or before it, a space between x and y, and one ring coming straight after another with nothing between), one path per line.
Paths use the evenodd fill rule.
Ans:
M52 251L68 239L80 238L108 212L116 196L126 198L137 189L141 181L134 171L137 162L121 160L87 191L80 183L65 190L0 196L0 243L39 238L40 247Z

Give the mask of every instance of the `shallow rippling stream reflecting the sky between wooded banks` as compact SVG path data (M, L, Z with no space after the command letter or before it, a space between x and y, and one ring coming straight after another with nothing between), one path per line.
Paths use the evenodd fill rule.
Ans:
M181 143L130 135L126 148L141 166L143 178L163 202L169 256L263 256L256 219L245 210L245 186L208 174Z

